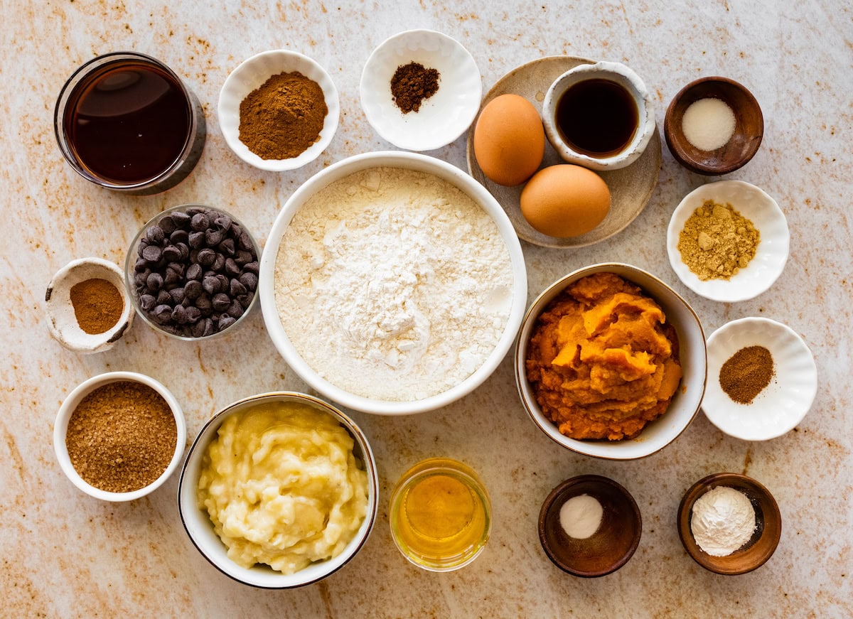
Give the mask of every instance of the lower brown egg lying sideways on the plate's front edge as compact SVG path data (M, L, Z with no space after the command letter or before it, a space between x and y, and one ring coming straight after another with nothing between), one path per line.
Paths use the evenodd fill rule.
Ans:
M521 191L521 214L542 234L566 238L586 234L610 211L610 189L601 176L580 165L543 168Z

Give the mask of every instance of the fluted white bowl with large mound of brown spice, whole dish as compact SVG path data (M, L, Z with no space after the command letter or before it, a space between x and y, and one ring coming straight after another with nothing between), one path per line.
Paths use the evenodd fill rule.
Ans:
M308 56L272 49L243 61L219 92L219 127L229 148L261 170L296 170L332 142L338 90Z

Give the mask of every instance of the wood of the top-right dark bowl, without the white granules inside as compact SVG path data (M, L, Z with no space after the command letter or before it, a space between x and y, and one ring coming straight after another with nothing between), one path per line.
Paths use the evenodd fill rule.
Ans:
M725 101L734 112L731 139L721 148L705 151L688 142L682 130L684 112L700 99ZM676 160L689 171L705 175L728 174L745 165L761 146L764 117L758 101L749 90L728 78L699 78L673 98L664 117L666 146Z

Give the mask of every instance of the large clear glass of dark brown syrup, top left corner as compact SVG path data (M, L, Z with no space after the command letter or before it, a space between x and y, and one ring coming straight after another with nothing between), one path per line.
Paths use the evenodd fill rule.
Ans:
M156 194L189 175L206 123L195 96L162 62L115 52L85 63L56 101L56 141L80 176L133 194Z

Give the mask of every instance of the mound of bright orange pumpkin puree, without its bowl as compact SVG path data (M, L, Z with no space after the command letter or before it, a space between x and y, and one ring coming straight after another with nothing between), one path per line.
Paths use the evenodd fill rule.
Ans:
M636 437L682 379L663 309L613 273L584 277L548 304L525 364L543 413L580 439Z

